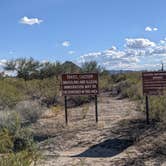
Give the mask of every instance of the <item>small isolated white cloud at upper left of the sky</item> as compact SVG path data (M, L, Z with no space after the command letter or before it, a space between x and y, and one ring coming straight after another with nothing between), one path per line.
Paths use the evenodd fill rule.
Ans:
M26 24L26 25L34 25L34 24L40 24L42 23L43 20L38 19L38 18L28 18L27 16L24 16L20 19L21 24Z

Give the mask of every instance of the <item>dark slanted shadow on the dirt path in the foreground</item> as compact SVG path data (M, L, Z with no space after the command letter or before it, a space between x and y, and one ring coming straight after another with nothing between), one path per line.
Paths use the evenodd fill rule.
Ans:
M90 147L85 152L72 157L113 157L121 153L124 149L128 148L132 144L133 141L128 139L108 139Z

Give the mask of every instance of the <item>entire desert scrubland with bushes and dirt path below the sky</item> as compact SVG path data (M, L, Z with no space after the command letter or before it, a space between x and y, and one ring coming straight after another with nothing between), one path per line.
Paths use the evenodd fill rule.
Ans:
M141 72L112 75L96 62L79 67L32 58L9 61L5 70L16 75L0 78L0 165L165 162L166 95L150 97L151 123L147 125ZM60 81L61 74L67 72L99 73L98 124L94 121L94 97L79 96L68 97L70 123L65 125Z

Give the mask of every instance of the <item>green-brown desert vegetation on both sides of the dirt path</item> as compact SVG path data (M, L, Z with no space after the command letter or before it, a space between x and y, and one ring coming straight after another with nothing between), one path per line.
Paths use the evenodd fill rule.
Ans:
M61 108L61 74L98 72L100 92L120 99L129 98L144 111L141 72L110 74L95 61L77 66L72 62L39 62L32 58L9 60L4 70L12 76L0 78L0 165L28 166L36 163L40 154L34 143L31 125L48 109ZM68 97L68 106L90 103L92 96ZM151 119L166 122L166 96L150 97ZM58 109L59 111L60 109ZM82 119L87 115L83 108ZM11 164L12 163L12 164Z

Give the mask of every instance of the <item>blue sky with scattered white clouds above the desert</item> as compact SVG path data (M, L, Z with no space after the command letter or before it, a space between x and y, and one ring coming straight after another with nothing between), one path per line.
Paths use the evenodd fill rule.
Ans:
M165 0L0 0L0 65L33 57L159 69L166 64L165 7Z

